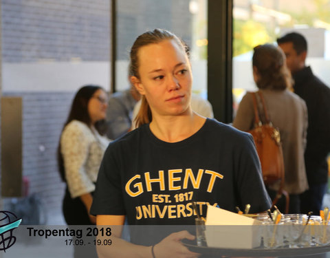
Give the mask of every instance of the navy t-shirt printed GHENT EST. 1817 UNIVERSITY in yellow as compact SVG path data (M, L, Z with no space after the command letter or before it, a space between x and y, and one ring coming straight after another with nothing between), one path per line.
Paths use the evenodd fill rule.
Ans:
M192 201L204 217L207 204L270 208L250 134L207 119L194 135L169 143L142 125L109 144L91 214L126 215L130 225L191 225Z

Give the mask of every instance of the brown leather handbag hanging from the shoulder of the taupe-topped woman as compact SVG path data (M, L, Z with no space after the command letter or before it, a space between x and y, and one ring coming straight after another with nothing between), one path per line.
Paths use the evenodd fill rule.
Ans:
M278 199L282 196L282 194L284 194L286 197L285 212L287 213L289 210L289 195L287 195L287 192L283 190L285 172L280 131L273 127L265 108L263 94L261 94L261 92L258 93L263 105L266 123L263 124L259 118L256 93L251 92L254 105L254 129L248 132L252 134L254 143L256 144L256 151L258 152L259 160L261 162L263 182L265 185L270 185L281 181L280 189L273 200L273 206L276 202L278 202Z

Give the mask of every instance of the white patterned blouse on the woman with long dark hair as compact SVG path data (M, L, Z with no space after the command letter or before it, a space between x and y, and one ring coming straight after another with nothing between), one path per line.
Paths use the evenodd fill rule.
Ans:
M98 169L109 142L84 122L72 120L65 126L61 136L61 153L72 198L95 190Z

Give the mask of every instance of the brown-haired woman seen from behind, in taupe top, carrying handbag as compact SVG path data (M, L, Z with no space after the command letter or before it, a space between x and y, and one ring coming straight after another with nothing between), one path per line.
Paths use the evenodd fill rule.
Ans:
M252 58L253 77L264 100L265 109L274 127L280 130L285 164L284 190L289 193L289 213L300 213L299 194L308 189L304 165L307 136L307 107L303 99L291 92L292 77L285 64L285 55L274 45L254 47ZM265 112L259 94L256 94L261 122ZM232 124L237 129L249 131L254 127L252 94L247 93L239 104ZM268 193L274 199L279 183L269 186ZM276 204L284 211L284 196Z

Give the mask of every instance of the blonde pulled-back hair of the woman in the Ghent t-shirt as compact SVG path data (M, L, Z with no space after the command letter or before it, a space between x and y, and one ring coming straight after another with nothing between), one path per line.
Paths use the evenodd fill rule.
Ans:
M182 50L184 50L184 52L186 52L186 54L189 57L189 48L186 45L186 43L184 43L184 41L182 41L177 36L175 36L175 34L173 34L172 32L163 29L155 29L153 31L144 32L144 34L141 34L140 36L137 37L137 39L135 39L135 42L131 47L131 52L130 52L131 62L129 64L129 76L135 76L140 80L140 75L138 73L138 68L140 63L137 53L141 47L144 47L145 45L149 45L149 44L159 43L165 40L172 40L172 39L174 39L177 42L177 44L182 47ZM151 120L152 120L151 109L148 105L148 101L146 100L146 97L142 95L140 110L133 122L135 124L135 127L140 127L140 125L147 124L151 122Z

